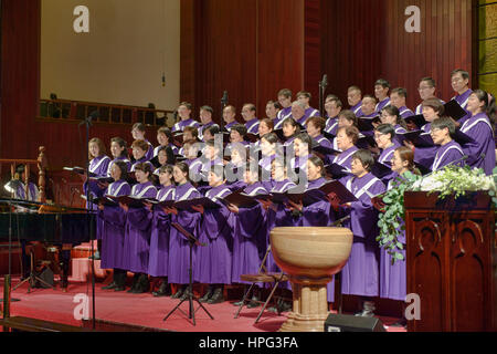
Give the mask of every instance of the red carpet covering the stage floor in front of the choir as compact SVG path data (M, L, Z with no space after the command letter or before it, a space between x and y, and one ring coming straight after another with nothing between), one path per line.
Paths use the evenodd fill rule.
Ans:
M12 285L15 285L18 281L14 279ZM285 313L278 316L276 313L265 311L260 322L254 324L261 308L244 308L235 320L237 306L231 302L205 304L205 309L214 317L211 320L202 309L198 309L199 305L195 303L197 325L193 325L188 319L188 302L183 302L181 309L187 315L177 310L167 321L162 321L178 304L178 300L154 298L150 293L116 293L112 290L101 290L102 287L102 283L95 284L95 317L109 322L181 332L275 332L286 320ZM55 290L32 289L31 293L28 293L28 284L24 284L12 292L11 298L21 301L11 303L11 316L21 315L81 326L82 321L74 317L74 310L81 303L73 302L76 294L88 295L89 316L92 316L92 285L76 282L71 282L65 293L59 287ZM389 317L381 317L381 320L385 325L396 321ZM394 327L388 331L405 332L403 329Z

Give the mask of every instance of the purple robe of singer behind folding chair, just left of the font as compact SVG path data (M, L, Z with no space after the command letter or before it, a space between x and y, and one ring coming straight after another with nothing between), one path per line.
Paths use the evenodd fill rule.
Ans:
M267 194L263 184L255 183L243 190L250 196ZM266 212L261 205L240 208L234 220L232 282L246 283L240 275L257 273L265 254L267 237Z

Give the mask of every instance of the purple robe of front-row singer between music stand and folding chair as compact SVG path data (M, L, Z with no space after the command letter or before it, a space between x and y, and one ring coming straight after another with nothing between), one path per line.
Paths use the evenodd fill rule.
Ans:
M221 185L211 188L205 197L219 204L219 209L204 209L199 240L205 247L198 247L195 254L194 281L204 284L231 284L233 258L234 215L219 201L231 190Z

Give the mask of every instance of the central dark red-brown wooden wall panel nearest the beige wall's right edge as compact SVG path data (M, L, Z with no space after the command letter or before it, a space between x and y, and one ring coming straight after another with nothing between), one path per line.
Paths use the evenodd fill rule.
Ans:
M264 117L266 102L276 100L281 88L295 93L303 90L304 3L304 0L181 2L182 17L195 19L182 32L186 37L182 56L183 51L192 52L195 60L194 65L187 62L182 66L181 77L186 82L181 97L191 100L195 112L201 105L211 105L219 122L221 97L228 91L229 103L236 107L237 119L242 122L240 112L244 103L254 103L257 116Z

